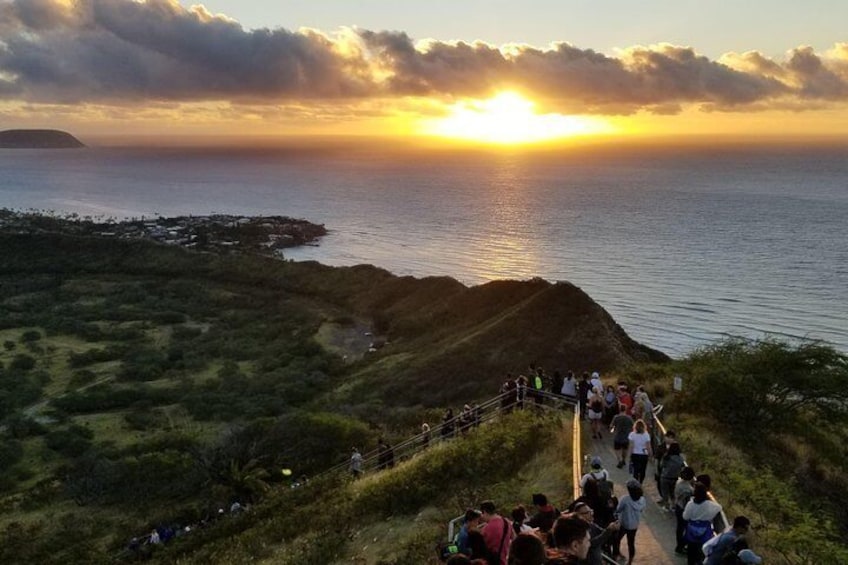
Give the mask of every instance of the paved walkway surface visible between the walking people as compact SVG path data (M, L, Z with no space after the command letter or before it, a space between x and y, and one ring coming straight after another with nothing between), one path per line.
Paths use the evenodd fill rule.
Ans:
M591 461L592 456L599 455L604 462L604 468L609 471L610 479L615 483L615 494L619 498L627 494L627 488L624 486L630 474L627 467L623 469L616 468L618 458L612 448L612 436L604 433L604 438L587 439L591 433L587 422L584 420L584 425L581 426L583 433L583 453L588 456L586 461ZM680 565L686 563L686 557L674 553L675 545L675 526L676 521L674 514L663 511L657 504L659 500L659 492L657 484L654 480L654 460L648 464L645 482L642 488L645 491L648 506L642 513L642 521L639 524L639 529L636 531L636 557L633 560L634 565ZM584 469L586 472L588 469ZM627 540L621 540L621 553L627 555ZM623 561L623 562L626 562Z

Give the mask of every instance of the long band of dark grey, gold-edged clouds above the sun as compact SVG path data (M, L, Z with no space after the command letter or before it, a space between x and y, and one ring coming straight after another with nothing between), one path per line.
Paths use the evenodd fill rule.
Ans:
M0 4L6 100L327 105L504 89L560 112L813 108L848 99L848 44L824 54L798 47L782 61L756 51L711 60L668 44L605 55L566 42L539 48L416 42L403 32L359 29L246 30L176 0Z

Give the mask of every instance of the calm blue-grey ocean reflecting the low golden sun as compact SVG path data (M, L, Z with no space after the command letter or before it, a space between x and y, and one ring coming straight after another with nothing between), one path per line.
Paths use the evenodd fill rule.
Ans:
M0 206L302 217L330 234L287 258L568 280L673 356L729 335L848 351L845 147L0 150Z

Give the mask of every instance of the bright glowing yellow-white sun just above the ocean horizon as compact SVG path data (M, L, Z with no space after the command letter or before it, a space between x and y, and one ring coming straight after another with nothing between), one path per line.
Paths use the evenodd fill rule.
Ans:
M519 145L613 131L600 118L537 114L534 106L515 92L502 92L488 100L458 102L446 117L422 121L422 132L456 140Z

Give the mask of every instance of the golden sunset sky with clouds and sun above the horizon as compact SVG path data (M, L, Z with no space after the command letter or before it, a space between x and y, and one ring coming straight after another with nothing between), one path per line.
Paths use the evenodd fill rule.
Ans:
M848 2L0 0L0 129L848 132Z

